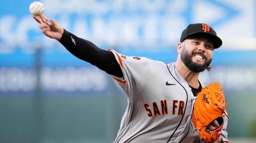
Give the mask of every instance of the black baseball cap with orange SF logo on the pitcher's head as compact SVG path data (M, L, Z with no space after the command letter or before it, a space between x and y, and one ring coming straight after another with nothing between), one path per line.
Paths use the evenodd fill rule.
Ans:
M217 49L222 45L222 41L217 36L216 32L206 23L189 24L189 26L182 32L180 42L193 36L205 36L209 38L213 42L214 49Z

